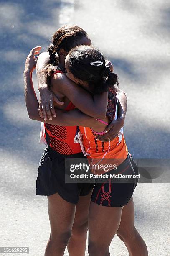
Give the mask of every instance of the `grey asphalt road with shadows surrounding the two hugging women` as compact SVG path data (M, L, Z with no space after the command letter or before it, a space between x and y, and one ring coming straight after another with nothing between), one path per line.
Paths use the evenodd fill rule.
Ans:
M35 195L44 148L39 144L40 123L29 120L24 102L24 61L30 49L41 45L46 51L62 25L84 28L113 62L126 92L129 151L135 158L167 159L169 20L167 0L0 1L0 246L29 246L30 255L43 256L50 234L47 199ZM168 183L138 184L134 191L135 225L150 256L170 255L169 189ZM128 255L117 237L110 248L111 255Z

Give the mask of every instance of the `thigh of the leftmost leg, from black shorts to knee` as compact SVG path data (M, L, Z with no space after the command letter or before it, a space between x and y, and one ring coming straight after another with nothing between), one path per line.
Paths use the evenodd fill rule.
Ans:
M63 200L58 193L47 196L48 214L51 225L51 238L59 234L71 233L76 205Z

